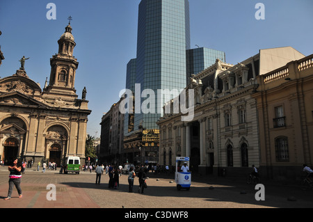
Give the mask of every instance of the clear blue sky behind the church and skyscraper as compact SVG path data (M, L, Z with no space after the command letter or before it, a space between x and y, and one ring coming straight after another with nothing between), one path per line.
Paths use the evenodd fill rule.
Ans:
M48 20L48 3L56 4L56 19ZM58 52L58 39L72 16L72 34L79 61L75 79L81 98L92 113L87 133L100 135L103 113L120 99L125 88L126 65L136 58L138 4L140 0L1 0L0 45L5 60L0 77L19 69L22 56L31 57L25 69L44 86L50 58ZM265 19L255 19L257 3L264 3ZM313 54L312 0L189 0L191 47L225 51L226 62L236 64L259 49L291 46Z

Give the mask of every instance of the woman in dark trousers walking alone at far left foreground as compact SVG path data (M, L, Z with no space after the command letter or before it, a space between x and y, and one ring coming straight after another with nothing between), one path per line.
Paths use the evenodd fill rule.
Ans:
M22 189L20 187L21 184L21 177L22 177L22 161L19 159L15 159L13 161L12 166L8 166L8 171L10 171L9 175L9 189L8 189L8 196L4 200L10 200L13 186L15 185L17 192L19 193L19 198L22 198Z

